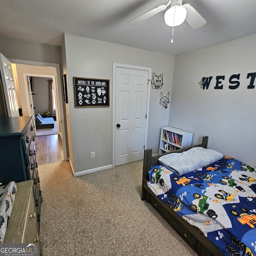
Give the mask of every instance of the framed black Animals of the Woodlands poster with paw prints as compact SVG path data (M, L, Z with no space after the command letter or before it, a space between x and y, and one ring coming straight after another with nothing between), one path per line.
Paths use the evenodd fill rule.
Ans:
M109 80L74 77L75 107L109 107Z

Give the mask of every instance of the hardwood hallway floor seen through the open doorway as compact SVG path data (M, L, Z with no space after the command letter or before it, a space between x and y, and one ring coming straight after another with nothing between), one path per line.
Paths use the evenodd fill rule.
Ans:
M62 140L60 135L36 136L36 158L38 165L63 161Z

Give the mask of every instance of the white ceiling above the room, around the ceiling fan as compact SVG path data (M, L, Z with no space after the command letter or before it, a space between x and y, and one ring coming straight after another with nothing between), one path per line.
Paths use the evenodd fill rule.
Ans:
M184 0L207 23L174 28L164 12L129 25L167 0L0 0L0 36L60 46L64 32L136 48L181 54L256 34L256 0ZM1 43L1 42L0 42Z

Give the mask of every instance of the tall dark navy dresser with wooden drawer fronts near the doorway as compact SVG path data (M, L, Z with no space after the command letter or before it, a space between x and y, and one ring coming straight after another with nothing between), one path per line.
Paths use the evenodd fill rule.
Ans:
M39 230L42 194L32 117L0 117L0 156L0 182L2 185L10 181L33 181L32 191Z

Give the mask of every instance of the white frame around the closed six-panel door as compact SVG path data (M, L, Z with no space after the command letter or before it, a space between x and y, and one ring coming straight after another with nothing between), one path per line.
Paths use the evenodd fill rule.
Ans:
M146 124L145 124L145 137L144 137L144 145L145 148L147 147L147 138L148 138L148 116L149 116L149 103L150 103L150 81L151 81L151 73L152 68L142 67L142 66L134 66L122 63L113 62L113 78L112 78L112 166L115 167L115 148L116 148L116 68L129 68L129 69L136 69L136 70L144 70L148 71L148 92L147 92L147 103L146 103Z

